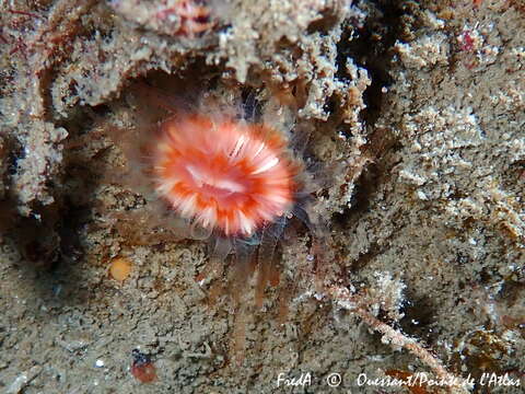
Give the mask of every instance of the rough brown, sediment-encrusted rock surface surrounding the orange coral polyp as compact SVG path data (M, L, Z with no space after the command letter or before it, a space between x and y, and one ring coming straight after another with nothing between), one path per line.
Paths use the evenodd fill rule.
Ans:
M0 8L1 392L444 393L358 380L440 366L523 391L523 1ZM124 170L120 130L207 96L310 135L316 225L291 221L261 308L234 260L197 280L207 243Z

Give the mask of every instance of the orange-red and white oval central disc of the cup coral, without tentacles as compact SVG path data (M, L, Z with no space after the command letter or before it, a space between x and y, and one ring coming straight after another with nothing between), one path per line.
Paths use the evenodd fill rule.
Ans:
M262 125L172 117L153 144L156 190L203 228L250 236L294 204L299 167L285 142Z

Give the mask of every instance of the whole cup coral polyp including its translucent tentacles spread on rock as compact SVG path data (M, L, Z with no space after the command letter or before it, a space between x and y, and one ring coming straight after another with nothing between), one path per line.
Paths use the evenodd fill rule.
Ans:
M154 77L156 84L164 81ZM133 84L130 119L137 126L108 130L128 164L116 182L145 202L115 215L117 231L127 240L138 232L141 244L206 241L208 260L195 279L210 286L210 302L230 293L238 305L255 285L260 308L267 287L279 286L284 242L306 230L319 255L323 223L312 201L319 185L310 172L314 159L305 154L312 127L260 92L256 100L255 91L243 96L215 88L191 99L178 93L182 81L165 81L166 90Z

